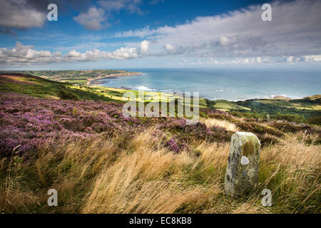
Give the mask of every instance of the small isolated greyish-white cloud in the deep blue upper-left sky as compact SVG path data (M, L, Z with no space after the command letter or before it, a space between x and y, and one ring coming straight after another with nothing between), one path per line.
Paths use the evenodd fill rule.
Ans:
M100 30L104 26L109 25L106 21L105 12L96 7L89 8L86 13L81 13L73 17L73 19L89 30ZM105 21L105 23L103 23L103 21Z

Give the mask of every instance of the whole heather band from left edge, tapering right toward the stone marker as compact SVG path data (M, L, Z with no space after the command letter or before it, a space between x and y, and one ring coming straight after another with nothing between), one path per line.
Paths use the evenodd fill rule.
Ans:
M207 128L203 123L187 125L186 120L178 118L126 117L121 108L122 104L113 102L53 100L1 93L1 157L11 155L18 146L21 155L27 156L26 152L36 152L47 144L124 132L135 135L149 126L176 135L175 142L164 139L164 144L179 152L186 147L185 143L195 138L221 138L225 132L223 128Z

